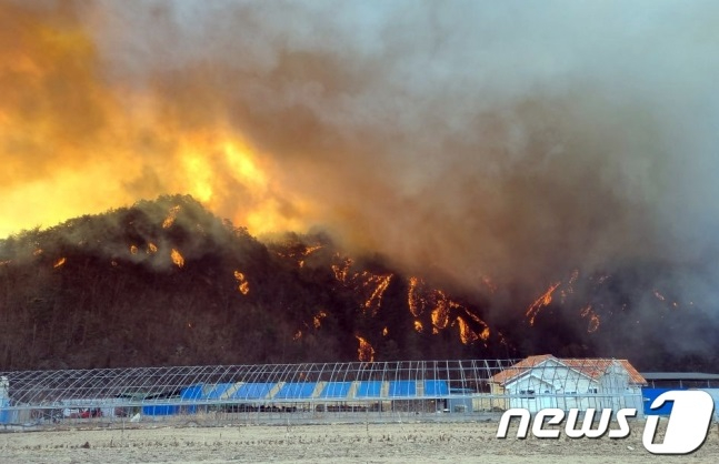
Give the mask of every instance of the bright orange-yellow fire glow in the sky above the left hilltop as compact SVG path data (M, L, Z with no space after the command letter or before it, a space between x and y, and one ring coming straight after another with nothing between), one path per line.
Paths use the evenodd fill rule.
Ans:
M21 24L0 40L0 165L12 173L0 185L0 238L174 193L254 235L306 229L308 203L286 191L272 158L223 102L202 98L214 94L211 80L178 102L162 83L108 77L96 31L66 13L73 8L0 9L3 24ZM203 111L212 117L194 118Z

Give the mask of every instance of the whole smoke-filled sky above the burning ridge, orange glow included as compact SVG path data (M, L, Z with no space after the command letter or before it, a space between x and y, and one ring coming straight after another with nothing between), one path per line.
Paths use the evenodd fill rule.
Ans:
M710 301L717 14L6 1L2 233L178 191L251 232L321 226L466 289L661 262L695 269L680 286ZM228 137L249 171L219 153Z

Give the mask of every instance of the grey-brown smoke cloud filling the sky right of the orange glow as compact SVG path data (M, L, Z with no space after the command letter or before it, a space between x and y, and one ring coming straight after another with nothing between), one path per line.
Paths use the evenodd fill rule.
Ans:
M77 11L103 81L179 128L229 121L279 167L287 214L309 201L303 222L351 250L470 290L655 261L717 282L716 2Z

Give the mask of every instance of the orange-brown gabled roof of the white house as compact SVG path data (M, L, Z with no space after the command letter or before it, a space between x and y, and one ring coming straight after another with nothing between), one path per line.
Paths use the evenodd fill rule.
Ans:
M555 357L551 354L540 354L537 356L529 356L511 367L506 369L499 374L493 375L490 379L490 382L498 383L500 385L506 385L507 383L513 381L515 379L523 375L533 367L538 367L548 361L555 361L559 364L562 364L569 369L572 369L588 377L598 381L607 370L616 362L619 363L629 374L629 383L635 385L646 385L647 381L641 376L635 366L629 363L627 360L607 360L607 359L559 359Z

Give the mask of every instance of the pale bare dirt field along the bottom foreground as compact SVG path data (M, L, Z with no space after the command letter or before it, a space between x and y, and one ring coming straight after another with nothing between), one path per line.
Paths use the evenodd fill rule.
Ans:
M626 440L499 440L497 423L241 425L61 430L0 434L2 463L647 463L719 462L719 433L688 456L655 456L643 423Z

